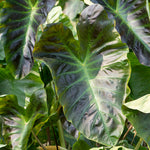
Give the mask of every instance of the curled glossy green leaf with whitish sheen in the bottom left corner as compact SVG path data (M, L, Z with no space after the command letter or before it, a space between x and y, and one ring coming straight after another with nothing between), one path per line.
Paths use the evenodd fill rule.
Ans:
M46 93L42 89L31 96L26 109L18 105L14 95L0 97L0 115L5 117L5 123L12 129L13 150L27 149L29 136L36 121L40 118L42 121L47 120L47 112Z

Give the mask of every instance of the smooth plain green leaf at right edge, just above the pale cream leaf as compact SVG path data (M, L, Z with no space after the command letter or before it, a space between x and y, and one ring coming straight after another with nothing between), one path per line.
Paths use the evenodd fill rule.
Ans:
M131 77L129 87L132 99L138 99L146 94L150 94L150 67L141 65L133 52L128 54L131 63Z

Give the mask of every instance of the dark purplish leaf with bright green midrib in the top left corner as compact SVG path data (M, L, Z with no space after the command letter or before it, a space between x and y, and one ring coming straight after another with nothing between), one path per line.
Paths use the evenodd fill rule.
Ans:
M55 0L7 0L2 11L1 28L6 60L16 77L29 73L37 27L44 23Z

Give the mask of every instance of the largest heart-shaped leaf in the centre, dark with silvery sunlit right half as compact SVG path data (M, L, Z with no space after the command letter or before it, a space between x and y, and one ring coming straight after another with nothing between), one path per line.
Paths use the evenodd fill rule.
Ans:
M124 128L128 49L100 5L82 12L77 30L80 43L62 23L49 25L34 55L49 65L67 120L89 139L114 145Z

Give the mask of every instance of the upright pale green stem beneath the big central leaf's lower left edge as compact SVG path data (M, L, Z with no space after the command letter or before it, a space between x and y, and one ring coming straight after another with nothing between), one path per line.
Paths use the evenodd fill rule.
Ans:
M58 127L60 145L61 145L61 147L66 148L65 139L64 139L64 133L63 133L63 128L62 128L62 124L61 124L60 120L57 121L57 127Z

